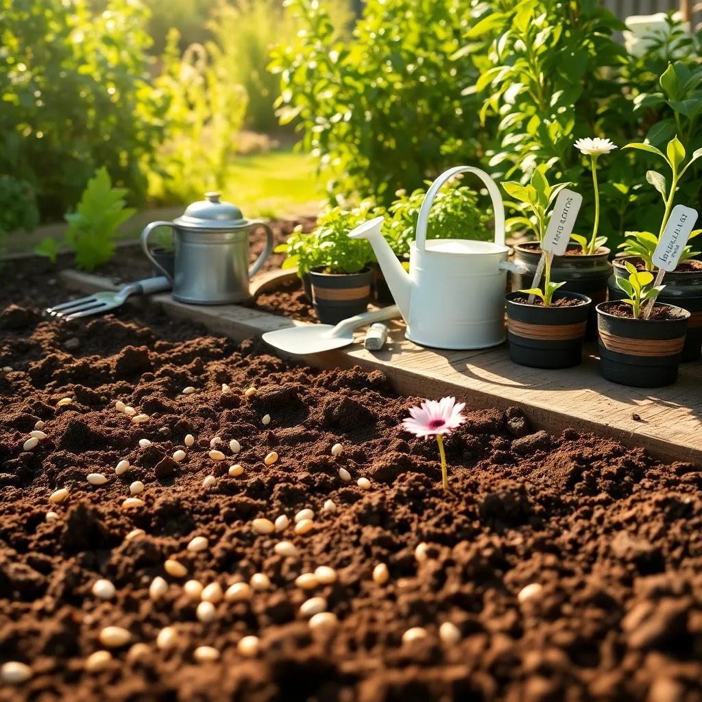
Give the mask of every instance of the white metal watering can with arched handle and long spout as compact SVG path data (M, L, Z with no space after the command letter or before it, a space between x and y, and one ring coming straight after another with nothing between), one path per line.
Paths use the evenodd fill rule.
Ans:
M487 187L495 213L495 242L430 239L427 223L432 202L446 180L458 173L475 173ZM487 173L456 166L442 173L427 191L417 220L416 241L410 246L409 274L385 241L383 218L350 232L368 239L378 264L407 324L414 343L442 349L482 349L505 340L506 271L519 271L507 262L505 208L498 187Z

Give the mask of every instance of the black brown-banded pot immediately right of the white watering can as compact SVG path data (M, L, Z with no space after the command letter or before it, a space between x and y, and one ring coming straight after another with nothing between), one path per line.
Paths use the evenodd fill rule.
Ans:
M512 361L532 368L570 368L580 364L592 300L586 295L560 290L554 293L554 302L575 298L582 304L537 307L519 303L517 298L524 298L524 294L515 292L505 296Z

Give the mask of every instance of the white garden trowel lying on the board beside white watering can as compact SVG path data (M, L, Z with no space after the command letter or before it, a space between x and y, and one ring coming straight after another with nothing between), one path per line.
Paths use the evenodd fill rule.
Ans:
M263 340L286 353L296 355L320 353L352 344L353 333L360 326L397 319L399 316L399 307L390 305L390 307L383 307L382 310L363 312L355 317L343 319L336 326L305 324L305 326L293 326L290 329L267 331L263 335Z

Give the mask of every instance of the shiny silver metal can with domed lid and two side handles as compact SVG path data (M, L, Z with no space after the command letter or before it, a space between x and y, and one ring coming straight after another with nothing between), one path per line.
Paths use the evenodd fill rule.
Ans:
M220 201L218 192L206 192L173 222L152 222L141 232L141 246L154 267L173 283L173 299L194 305L225 305L251 297L249 280L273 250L271 228L244 219L241 210ZM149 235L157 227L171 227L175 248L173 276L152 256ZM249 266L249 234L266 232L263 253Z

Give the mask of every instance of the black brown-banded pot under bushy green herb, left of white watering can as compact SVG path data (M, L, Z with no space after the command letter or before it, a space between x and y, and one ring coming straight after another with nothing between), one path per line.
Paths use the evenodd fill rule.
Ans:
M312 302L322 324L338 324L342 319L365 312L371 300L373 271L366 267L358 273L334 274L324 267L310 271Z

